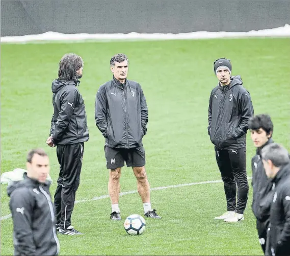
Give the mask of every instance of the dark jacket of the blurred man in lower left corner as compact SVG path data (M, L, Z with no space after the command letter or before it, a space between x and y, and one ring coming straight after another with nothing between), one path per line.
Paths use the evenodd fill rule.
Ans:
M14 224L14 255L58 255L54 208L49 183L24 180L7 187Z

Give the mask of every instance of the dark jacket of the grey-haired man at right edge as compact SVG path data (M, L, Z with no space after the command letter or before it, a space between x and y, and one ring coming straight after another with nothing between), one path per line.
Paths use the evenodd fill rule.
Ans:
M290 164L273 179L266 255L290 255Z

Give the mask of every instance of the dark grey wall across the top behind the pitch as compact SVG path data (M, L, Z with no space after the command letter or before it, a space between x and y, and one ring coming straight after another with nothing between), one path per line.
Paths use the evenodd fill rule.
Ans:
M250 31L290 24L288 0L1 1L1 36Z

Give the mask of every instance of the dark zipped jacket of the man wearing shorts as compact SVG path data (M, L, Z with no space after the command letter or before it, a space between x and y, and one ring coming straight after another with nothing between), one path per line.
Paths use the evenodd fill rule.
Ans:
M147 132L148 109L139 83L117 79L101 85L97 91L95 120L111 148L142 146Z

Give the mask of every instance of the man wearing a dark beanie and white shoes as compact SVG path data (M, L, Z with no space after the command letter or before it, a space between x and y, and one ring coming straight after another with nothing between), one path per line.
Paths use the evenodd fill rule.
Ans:
M239 222L244 220L248 199L246 133L254 110L241 76L231 76L230 60L216 60L214 71L219 83L209 98L208 135L215 145L227 201L227 212L215 219Z

